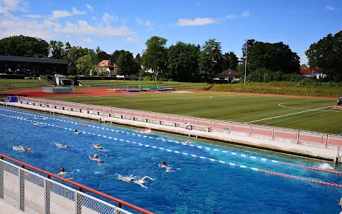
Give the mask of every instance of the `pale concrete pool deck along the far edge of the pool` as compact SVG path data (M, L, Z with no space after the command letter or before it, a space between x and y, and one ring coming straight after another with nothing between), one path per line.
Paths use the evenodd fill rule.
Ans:
M0 102L1 104L2 102ZM2 103L4 105L4 103ZM323 161L336 161L338 156L337 146L326 146L322 143L299 143L291 140L277 140L274 141L266 136L250 136L242 133L222 133L216 131L198 131L187 130L182 127L165 126L156 123L146 123L142 121L134 121L124 118L107 118L90 113L80 113L76 111L67 111L54 108L46 108L41 106L32 106L24 103L6 103L7 106L17 108L26 108L34 111L43 111L46 113L56 113L64 116L74 116L78 118L86 118L89 120L100 121L105 119L105 123L116 123L125 126L134 127L150 127L155 131L162 131L166 133L175 133L182 136L191 136L195 138L207 139L210 141L218 141L222 143L229 143L238 146L247 146L250 148L259 148L267 151L276 151L286 153L294 156L302 156L306 158L314 158Z

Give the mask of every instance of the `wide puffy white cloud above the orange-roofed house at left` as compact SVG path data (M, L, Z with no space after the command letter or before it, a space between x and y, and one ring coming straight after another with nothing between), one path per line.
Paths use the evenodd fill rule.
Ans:
M113 27L109 24L107 26L103 26L102 24L91 26L87 21L82 20L78 20L77 23L66 21L66 25L61 28L61 33L97 36L126 36L135 34L127 26Z

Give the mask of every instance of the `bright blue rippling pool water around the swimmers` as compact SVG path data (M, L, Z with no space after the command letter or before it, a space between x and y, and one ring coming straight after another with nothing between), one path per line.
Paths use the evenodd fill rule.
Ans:
M4 111L4 109L9 111ZM36 116L25 115L22 114L23 112L49 118L38 120L34 118ZM152 133L149 135L152 138L143 137L138 136L135 128L99 125L76 118L16 108L0 108L0 113L2 114L0 115L0 153L52 173L58 173L59 168L63 166L68 172L72 172L70 176L76 182L127 200L155 213L341 212L341 208L337 205L341 198L341 188L267 175L248 168L209 161L207 158L342 184L342 175L265 162L260 158L313 167L319 167L322 164L320 161L207 141L192 140L195 146L185 146L175 141L187 141L187 138L164 133ZM63 128L33 126L31 122L22 121L13 116ZM80 126L78 123L90 126ZM64 127L71 128L71 130ZM73 129L90 134L76 136L73 134ZM56 142L74 147L57 148ZM92 148L93 143L100 143L108 151L96 151ZM142 143L143 146L138 143ZM32 148L33 151L23 153L13 150L13 146L18 145ZM210 149L205 149L206 147ZM172 152L168 152L167 149ZM180 151L180 153L173 151ZM222 151L227 151L227 153ZM231 152L237 155L232 155ZM88 156L93 156L95 153L103 159L103 163L89 160ZM182 153L188 155L185 156ZM240 156L241 153L247 157ZM202 156L205 159L191 155ZM257 158L253 159L250 156ZM166 161L167 164L174 168L181 168L181 170L176 173L165 173L165 170L157 167L157 163L161 161ZM335 168L335 170L341 170L341 168ZM148 188L145 189L134 183L125 183L116 179L118 174L135 178L147 175L154 180L147 180Z

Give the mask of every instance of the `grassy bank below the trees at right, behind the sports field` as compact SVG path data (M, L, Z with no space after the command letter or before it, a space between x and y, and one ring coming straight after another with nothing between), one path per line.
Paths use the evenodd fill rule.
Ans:
M243 93L270 93L301 96L342 96L341 86L296 86L289 82L236 83L214 85L210 91L229 91Z

